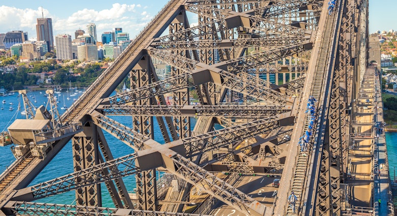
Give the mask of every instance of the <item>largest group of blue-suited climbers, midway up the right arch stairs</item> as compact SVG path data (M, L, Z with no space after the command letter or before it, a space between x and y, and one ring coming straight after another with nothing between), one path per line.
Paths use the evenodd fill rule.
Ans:
M316 108L315 108L315 102L316 99L313 96L309 96L309 99L307 101L307 107L305 113L308 113L308 120L309 120L309 125L307 127L307 131L299 138L298 145L300 146L300 150L303 153L303 156L306 156L306 151L307 151L307 145L309 143L310 137L313 127L316 121Z

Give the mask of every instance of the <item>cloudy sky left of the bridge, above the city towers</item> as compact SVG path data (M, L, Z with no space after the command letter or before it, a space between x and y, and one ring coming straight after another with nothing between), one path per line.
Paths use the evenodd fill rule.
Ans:
M132 3L132 4L131 4ZM45 1L18 1L0 5L0 33L22 30L27 32L29 40L37 40L37 18L52 18L53 35L71 35L77 29L87 32L87 25L95 23L97 37L103 32L109 32L115 27L123 27L124 32L132 38L160 11L166 0L124 1L117 3L86 2L71 0L68 4L50 5ZM42 8L43 7L43 8ZM98 38L100 41L100 39Z

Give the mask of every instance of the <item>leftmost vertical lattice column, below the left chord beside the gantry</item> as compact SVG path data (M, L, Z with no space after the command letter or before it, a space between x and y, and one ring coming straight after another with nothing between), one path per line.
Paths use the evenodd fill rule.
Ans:
M99 164L98 138L96 127L88 122L84 131L72 138L73 168L79 171ZM80 179L76 179L79 181ZM101 186L94 184L76 190L76 204L87 206L102 206Z

